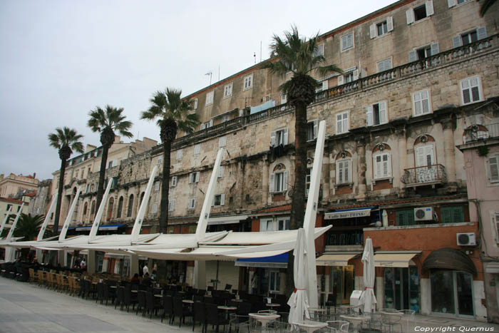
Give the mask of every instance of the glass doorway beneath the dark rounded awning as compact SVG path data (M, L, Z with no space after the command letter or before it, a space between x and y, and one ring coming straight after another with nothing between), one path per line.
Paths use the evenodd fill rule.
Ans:
M431 311L458 317L474 317L473 277L468 272L431 272Z

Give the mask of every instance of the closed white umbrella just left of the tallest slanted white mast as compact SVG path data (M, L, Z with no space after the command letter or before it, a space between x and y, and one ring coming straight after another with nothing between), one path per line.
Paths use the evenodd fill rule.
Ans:
M294 292L291 294L291 297L289 297L287 302L290 307L288 318L288 322L290 324L303 322L304 316L310 318L309 299L307 297L307 247L305 246L305 242L305 232L303 228L300 228L297 234L297 245L293 250Z

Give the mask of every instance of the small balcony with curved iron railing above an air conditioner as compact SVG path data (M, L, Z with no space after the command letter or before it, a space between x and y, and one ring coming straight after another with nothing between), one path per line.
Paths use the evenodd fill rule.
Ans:
M446 168L441 164L425 165L404 170L401 182L408 187L427 186L447 183Z

